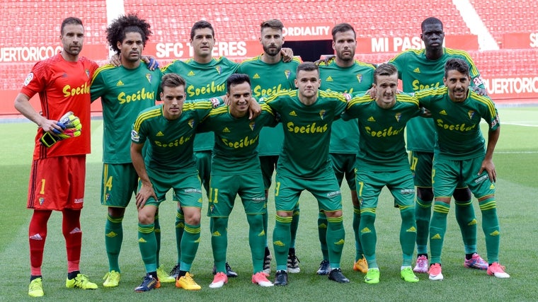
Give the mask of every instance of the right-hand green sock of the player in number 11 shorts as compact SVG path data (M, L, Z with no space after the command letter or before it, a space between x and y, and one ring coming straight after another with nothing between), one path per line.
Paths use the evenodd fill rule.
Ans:
M251 246L253 274L263 271L263 257L265 256L265 246L267 236L263 230L263 219L261 214L246 215L248 221L248 244Z

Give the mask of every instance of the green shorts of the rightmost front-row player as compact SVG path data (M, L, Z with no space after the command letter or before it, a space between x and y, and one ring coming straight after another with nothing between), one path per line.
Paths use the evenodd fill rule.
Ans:
M451 197L461 183L467 185L476 198L495 194L495 184L489 180L488 172L478 174L482 161L482 157L462 161L434 158L433 195Z

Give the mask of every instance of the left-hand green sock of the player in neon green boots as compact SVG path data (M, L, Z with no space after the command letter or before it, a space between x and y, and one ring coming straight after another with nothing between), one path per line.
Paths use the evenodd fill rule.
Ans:
M377 244L377 234L375 233L375 208L362 208L360 210L360 243L364 252L368 267L378 267L375 257L375 245Z

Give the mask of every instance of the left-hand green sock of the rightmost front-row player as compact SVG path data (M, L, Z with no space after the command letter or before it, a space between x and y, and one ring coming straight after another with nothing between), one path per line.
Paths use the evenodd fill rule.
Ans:
M442 243L447 232L447 215L450 204L445 202L433 203L433 215L430 221L430 263L441 263Z

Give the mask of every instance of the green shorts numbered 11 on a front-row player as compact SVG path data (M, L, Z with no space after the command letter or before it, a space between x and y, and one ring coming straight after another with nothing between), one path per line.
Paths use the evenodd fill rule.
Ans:
M261 172L242 175L211 175L210 205L207 209L207 216L230 216L237 194L241 197L246 214L267 213L265 190L261 183Z

